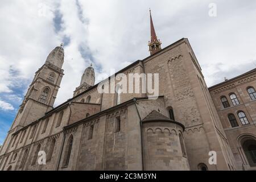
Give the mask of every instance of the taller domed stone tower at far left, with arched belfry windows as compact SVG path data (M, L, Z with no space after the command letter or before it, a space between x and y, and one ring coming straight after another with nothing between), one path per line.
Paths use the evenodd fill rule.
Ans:
M49 53L44 65L35 73L11 129L18 130L53 108L60 82L64 75L64 49L56 47Z

